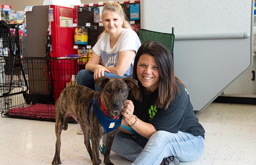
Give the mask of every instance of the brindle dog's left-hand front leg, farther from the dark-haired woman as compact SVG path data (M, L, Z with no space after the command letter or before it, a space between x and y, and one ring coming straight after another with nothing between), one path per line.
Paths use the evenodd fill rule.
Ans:
M101 160L99 159L99 141L101 136L97 132L91 133L91 141L92 141L92 164L93 165L99 165L101 163Z

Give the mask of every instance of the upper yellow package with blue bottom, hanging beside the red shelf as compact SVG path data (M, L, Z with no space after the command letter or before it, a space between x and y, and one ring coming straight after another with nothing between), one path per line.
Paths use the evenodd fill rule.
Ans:
M76 28L75 30L75 44L88 44L88 29Z

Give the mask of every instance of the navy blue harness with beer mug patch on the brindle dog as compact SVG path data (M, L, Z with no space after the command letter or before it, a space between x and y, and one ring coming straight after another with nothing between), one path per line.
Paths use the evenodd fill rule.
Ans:
M91 106L93 106L94 114L97 117L97 119L99 120L99 122L102 125L102 127L104 128L105 133L114 131L119 126L119 124L121 123L122 116L116 116L116 117L113 117L113 119L110 119L109 117L107 117L105 115L105 114L108 114L108 112L104 109L104 106L102 104L103 110L105 112L105 114L103 114L103 112L100 111L99 108L98 108L96 97L94 97L91 100L91 103L90 103L90 105L88 106L88 108L86 110L87 121L89 122L90 126L91 126L91 123L90 123L90 119L89 119L89 109L91 108Z

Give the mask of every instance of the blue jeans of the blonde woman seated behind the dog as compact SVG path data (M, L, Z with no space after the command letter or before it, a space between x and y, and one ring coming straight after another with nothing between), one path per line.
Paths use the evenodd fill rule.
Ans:
M80 70L76 75L76 83L77 85L86 86L88 88L91 88L96 91L102 91L102 88L100 86L95 86L95 81L93 77L94 73L88 70ZM107 76L109 78L124 78L127 76L119 77L113 73L104 72L104 76Z

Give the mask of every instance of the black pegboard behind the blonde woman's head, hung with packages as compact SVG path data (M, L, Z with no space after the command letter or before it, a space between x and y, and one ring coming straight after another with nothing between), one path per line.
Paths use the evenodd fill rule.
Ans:
M140 4L140 2L133 3L133 4ZM130 22L130 3L120 4L126 14L127 20ZM102 5L103 6L103 5ZM78 27L85 27L88 29L88 45L93 47L98 39L100 33L104 31L103 26L99 26L99 23L94 23L93 21L93 9L99 6L91 6L91 7L77 7L77 25ZM81 10L82 8L82 10ZM135 24L140 26L140 20L134 20ZM92 28L86 27L86 23L90 23ZM97 27L94 29L93 27ZM85 45L78 45L78 47L85 47Z

